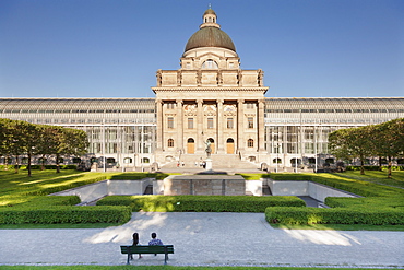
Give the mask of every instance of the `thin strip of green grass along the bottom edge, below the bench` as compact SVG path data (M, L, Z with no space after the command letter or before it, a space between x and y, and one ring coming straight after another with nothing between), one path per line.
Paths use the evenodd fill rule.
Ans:
M0 266L0 270L309 270L324 269L319 267L173 267L173 266ZM372 270L372 269L391 269L391 268L330 268L335 270Z

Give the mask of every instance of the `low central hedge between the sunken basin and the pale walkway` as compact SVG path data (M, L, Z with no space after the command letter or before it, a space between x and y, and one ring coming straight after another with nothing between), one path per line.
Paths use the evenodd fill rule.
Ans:
M268 207L304 207L294 196L109 196L97 206L129 206L146 212L264 212Z

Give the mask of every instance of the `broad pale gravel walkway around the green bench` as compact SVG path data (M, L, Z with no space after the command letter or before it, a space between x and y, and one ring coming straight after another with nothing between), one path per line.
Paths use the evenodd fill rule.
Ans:
M274 230L262 213L133 213L122 226L0 230L0 265L124 265L119 245L156 232L174 266L360 266L404 269L404 233ZM132 265L163 265L164 256Z

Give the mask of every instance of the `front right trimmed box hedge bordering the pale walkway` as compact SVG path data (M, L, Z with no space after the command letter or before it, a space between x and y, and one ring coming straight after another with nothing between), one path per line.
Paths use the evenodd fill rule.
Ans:
M283 224L370 224L404 225L404 211L400 209L367 208L268 208L269 223Z

